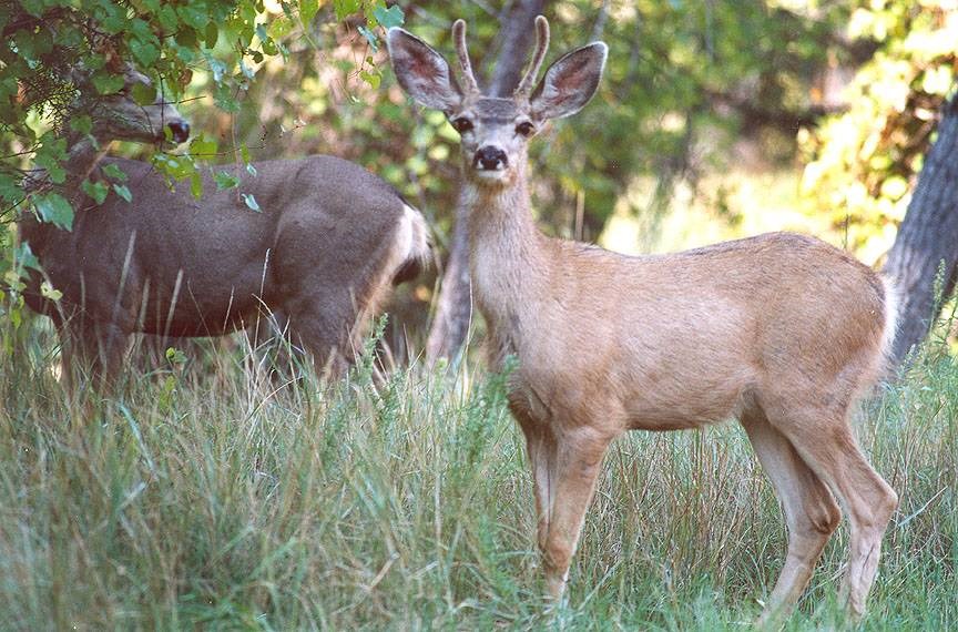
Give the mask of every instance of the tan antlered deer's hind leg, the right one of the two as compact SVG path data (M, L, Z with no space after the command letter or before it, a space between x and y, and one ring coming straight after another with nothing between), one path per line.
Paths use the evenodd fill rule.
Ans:
M782 430L848 514L848 568L839 594L852 618L859 619L878 571L881 538L898 507L898 496L858 449L847 411L837 416L825 411L806 415L801 426L794 424Z

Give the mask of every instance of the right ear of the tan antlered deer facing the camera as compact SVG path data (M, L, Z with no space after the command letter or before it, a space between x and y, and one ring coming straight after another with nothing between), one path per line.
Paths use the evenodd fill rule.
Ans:
M593 42L559 58L532 93L532 118L562 119L584 108L599 88L608 54L609 47Z

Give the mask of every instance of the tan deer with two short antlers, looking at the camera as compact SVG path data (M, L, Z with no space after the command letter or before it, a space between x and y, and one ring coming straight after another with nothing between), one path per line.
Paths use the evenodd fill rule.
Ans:
M564 592L610 442L626 430L735 418L788 528L758 624L791 613L843 509L850 542L840 595L862 616L898 499L863 455L849 415L886 370L895 288L798 234L643 256L543 235L531 213L528 144L592 99L609 49L572 50L537 83L549 23L539 16L534 27L532 61L511 98L480 90L462 20L452 26L458 80L408 31L390 29L387 43L398 84L460 135L472 292L491 367L518 363L508 406L526 439L551 603Z

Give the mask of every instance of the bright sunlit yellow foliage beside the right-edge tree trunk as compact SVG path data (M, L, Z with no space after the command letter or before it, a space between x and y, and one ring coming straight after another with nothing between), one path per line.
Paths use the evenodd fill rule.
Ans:
M847 112L803 134L803 190L849 245L884 252L905 215L944 101L952 92L958 12L942 0L860 1L848 37L878 43L848 88Z

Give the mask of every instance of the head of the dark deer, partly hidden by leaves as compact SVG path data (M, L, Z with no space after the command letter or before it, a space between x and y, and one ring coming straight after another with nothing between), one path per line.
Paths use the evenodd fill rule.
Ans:
M79 113L93 119L93 135L100 141L135 141L142 143L182 143L190 137L190 123L167 102L162 91L156 91L152 103L141 105L133 98L134 91L153 90L150 78L134 68L123 70L123 89L108 99L91 99L93 86L79 79L80 98L75 104Z

